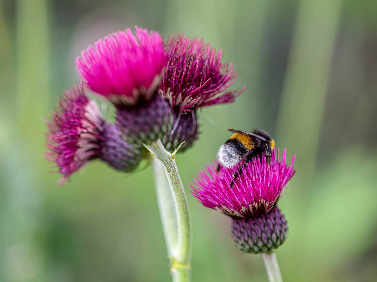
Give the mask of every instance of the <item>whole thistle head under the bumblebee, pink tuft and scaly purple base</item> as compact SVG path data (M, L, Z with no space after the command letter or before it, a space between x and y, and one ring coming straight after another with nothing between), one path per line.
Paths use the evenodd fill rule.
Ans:
M267 158L254 158L242 167L242 174L233 181L234 169L206 166L193 181L192 194L206 207L219 210L233 219L233 239L242 251L265 253L276 250L288 235L288 225L277 207L277 201L293 177L291 165L285 165L286 150L280 161L279 149L273 151L270 165Z

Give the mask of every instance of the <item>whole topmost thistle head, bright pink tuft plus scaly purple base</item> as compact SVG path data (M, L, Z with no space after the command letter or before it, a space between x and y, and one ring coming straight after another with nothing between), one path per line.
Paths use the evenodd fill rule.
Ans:
M87 87L116 106L116 125L130 143L151 143L171 127L172 111L158 94L165 61L161 35L138 27L110 34L76 59Z

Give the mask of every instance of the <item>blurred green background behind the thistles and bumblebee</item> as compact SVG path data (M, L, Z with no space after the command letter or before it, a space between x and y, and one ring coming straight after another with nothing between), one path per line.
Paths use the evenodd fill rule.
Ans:
M57 187L42 116L78 79L74 60L134 25L204 37L234 61L230 105L205 108L177 157L193 231L193 281L267 281L230 219L189 194L229 137L262 127L297 153L279 206L285 281L377 280L377 1L0 0L0 281L169 281L152 169L93 162Z

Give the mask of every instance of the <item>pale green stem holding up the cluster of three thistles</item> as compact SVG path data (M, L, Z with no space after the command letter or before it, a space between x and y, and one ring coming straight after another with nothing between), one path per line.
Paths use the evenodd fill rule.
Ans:
M164 187L156 187L156 190L157 193L162 191L162 194L158 195L158 203L171 261L170 271L173 273L173 281L189 282L191 280L191 230L187 198L175 163L175 155L170 154L164 148L161 140L149 144L148 148L164 168L162 171L161 165L158 166L155 161L153 162L156 186L164 185ZM167 182L163 180L161 174L166 174ZM168 187L166 187L167 184L169 184ZM170 189L170 194L167 193L168 189ZM171 199L173 199L174 209ZM176 220L176 223L173 223L173 220Z

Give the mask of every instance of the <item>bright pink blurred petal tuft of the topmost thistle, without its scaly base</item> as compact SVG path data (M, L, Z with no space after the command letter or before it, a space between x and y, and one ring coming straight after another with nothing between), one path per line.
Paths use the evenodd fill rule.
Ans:
M135 27L108 35L81 52L78 73L90 90L115 105L149 100L161 81L164 44L158 32Z

